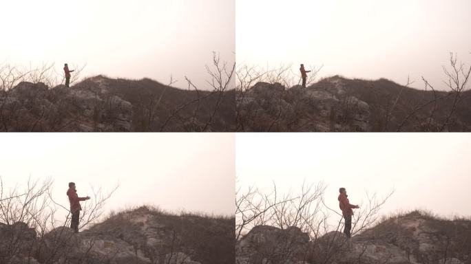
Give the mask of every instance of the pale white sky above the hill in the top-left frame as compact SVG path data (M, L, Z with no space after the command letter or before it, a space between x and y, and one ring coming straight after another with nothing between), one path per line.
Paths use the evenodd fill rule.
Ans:
M0 63L207 86L212 52L235 60L234 0L2 1ZM72 67L70 67L72 69Z

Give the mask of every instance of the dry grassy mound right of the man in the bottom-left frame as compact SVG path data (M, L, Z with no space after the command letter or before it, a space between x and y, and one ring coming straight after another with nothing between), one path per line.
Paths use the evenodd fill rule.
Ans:
M161 225L160 248L146 248L147 238L141 228L144 223L132 219L151 215L154 225ZM152 223L147 225L152 226ZM200 263L233 263L235 218L202 212L169 212L155 206L136 206L110 212L107 218L87 232L109 234L128 243L138 244L151 259L161 259L169 252L185 252Z

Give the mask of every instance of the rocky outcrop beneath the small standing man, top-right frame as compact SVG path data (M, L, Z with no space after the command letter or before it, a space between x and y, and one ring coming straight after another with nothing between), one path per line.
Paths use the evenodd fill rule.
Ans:
M251 131L369 131L370 107L344 91L286 89L279 83L257 83L238 98L240 122Z

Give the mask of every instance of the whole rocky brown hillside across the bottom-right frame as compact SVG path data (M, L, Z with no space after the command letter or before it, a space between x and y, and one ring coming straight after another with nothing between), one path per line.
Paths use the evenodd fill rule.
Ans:
M300 228L260 225L235 248L238 264L471 263L471 221L413 211L384 219L351 239L337 231L315 239Z

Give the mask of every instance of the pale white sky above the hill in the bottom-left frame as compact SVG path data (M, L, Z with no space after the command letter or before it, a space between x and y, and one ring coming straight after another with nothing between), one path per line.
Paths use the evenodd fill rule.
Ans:
M109 190L119 183L107 210L150 204L233 215L234 140L230 133L4 134L0 175L6 187L20 189L30 176L51 177L65 207L69 181L82 197L92 196L90 185Z

